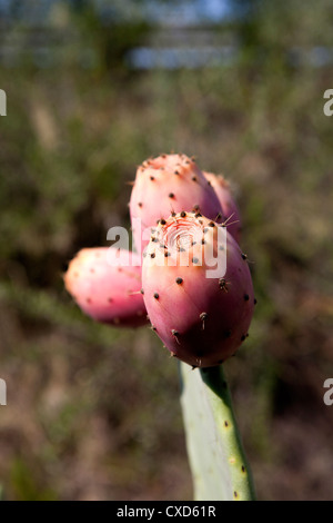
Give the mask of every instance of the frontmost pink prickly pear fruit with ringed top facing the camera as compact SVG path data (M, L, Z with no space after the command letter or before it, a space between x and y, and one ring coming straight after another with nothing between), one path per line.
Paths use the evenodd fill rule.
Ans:
M232 356L248 337L255 305L246 255L225 227L220 241L221 227L200 213L181 213L160 221L144 253L142 288L152 328L173 356L193 366ZM208 277L212 251L215 259L225 257L222 277Z

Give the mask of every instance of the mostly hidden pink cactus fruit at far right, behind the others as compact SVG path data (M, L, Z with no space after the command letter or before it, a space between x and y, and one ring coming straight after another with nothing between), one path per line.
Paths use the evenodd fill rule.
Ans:
M230 187L230 182L222 175L203 171L205 178L213 187L225 217L228 231L240 243L241 239L241 214Z

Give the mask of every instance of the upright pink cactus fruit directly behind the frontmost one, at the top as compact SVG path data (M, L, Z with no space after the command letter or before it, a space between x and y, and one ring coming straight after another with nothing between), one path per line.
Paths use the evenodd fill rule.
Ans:
M171 213L200 209L204 216L223 220L221 204L194 159L185 155L161 155L145 160L137 170L130 214L134 246L148 245L150 227ZM142 237L148 229L148 235Z

